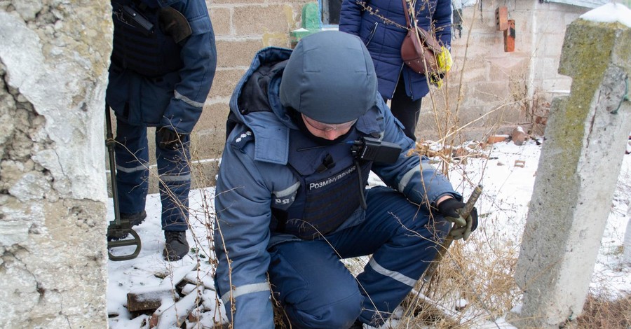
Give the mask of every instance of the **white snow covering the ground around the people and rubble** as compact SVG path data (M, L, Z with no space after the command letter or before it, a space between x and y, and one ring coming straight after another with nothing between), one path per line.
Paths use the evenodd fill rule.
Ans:
M496 243L521 241L538 165L541 146L528 141L523 146L512 142L493 144L482 151L486 156L469 158L466 165L455 166L450 179L456 190L468 197L478 183L484 187L482 197L477 203L482 225L473 235L484 236L488 250ZM465 173L465 174L462 174ZM371 184L378 184L372 176ZM160 284L163 277L178 268L198 262L198 278L206 281L205 304L212 299L212 251L210 249L210 225L215 215L212 197L214 188L192 190L190 194L191 226L187 233L193 251L183 260L165 262L162 259L163 233L160 224L160 201L158 195L149 195L147 199L147 219L135 230L142 239L142 251L133 260L121 262L108 261L109 283L107 290L107 311L110 314L109 325L112 329L149 328L149 316L135 316L127 311L126 295L136 288L152 287ZM590 290L604 295L631 293L631 268L623 265L623 238L627 226L629 200L631 195L631 155L625 155L620 170L620 181L616 188L608 223L602 238L602 246L597 258L595 272L592 275ZM108 221L114 219L111 200L108 207ZM193 242L195 241L195 242ZM126 248L126 249L125 249ZM131 247L116 248L116 255L131 253ZM209 283L210 282L210 283ZM223 308L220 308L224 311ZM506 310L509 311L508 309ZM213 321L225 321L216 314L203 314L201 326L189 323L189 328L212 328ZM477 328L510 328L503 321L481 323Z

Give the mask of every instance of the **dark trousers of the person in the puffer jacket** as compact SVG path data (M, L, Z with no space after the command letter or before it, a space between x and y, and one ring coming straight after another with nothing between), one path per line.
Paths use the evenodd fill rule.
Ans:
M384 97L384 95L381 95L381 97ZM386 100L387 98L384 97L384 102L386 102ZM400 74L399 82L391 99L390 110L395 118L405 127L403 130L405 136L411 138L412 141L416 141L414 131L416 130L416 123L419 121L419 114L421 113L421 100L422 98L413 101L412 97L407 96L405 93L405 81L403 80L403 75Z

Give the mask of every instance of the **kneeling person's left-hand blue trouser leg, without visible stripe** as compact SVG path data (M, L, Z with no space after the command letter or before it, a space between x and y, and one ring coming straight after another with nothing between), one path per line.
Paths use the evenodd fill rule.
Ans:
M348 328L364 297L325 241L287 241L270 248L269 279L292 328Z

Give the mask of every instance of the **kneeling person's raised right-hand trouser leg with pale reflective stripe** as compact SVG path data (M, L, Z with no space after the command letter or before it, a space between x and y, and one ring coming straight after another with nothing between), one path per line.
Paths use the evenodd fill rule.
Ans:
M366 219L327 237L343 258L370 255L358 275L365 295L360 319L379 326L412 290L437 252L449 223L430 219L424 207L385 187L367 190ZM441 239L437 238L440 235Z

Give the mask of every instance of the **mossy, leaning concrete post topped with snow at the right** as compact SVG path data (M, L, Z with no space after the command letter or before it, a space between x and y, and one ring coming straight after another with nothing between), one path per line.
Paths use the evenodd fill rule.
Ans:
M566 30L559 73L573 82L545 130L515 273L518 328L581 315L631 131L630 50L631 27L620 22L578 19Z

